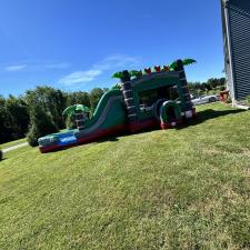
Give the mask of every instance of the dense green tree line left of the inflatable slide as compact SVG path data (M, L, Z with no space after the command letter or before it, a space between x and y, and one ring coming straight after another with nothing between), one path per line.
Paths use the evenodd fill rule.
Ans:
M67 107L81 103L93 112L107 90L64 92L43 86L19 97L0 96L0 143L27 137L30 144L37 146L37 138L67 127L70 121L62 117Z

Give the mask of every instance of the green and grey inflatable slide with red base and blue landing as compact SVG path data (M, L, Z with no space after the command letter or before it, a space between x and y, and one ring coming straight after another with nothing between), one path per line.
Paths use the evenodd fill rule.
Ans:
M110 90L103 94L92 118L86 121L82 129L52 133L40 138L38 142L41 152L50 152L116 134L126 128L127 113L122 92Z

